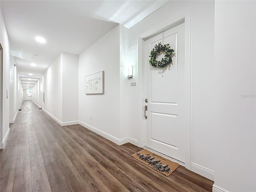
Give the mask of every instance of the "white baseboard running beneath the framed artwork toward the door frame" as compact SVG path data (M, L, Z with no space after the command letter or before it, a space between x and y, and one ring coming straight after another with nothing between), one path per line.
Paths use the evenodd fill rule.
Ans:
M81 122L81 121L78 121L78 124L80 124L81 126L85 127L85 128L88 128L89 130L99 134L100 136L114 142L115 144L118 144L118 145L123 145L125 143L131 143L131 144L134 144L136 146L138 146L138 140L134 139L134 138L130 138L130 137L125 137L125 138L122 138L122 139L118 139L116 138L115 136L112 136L102 130L99 130L93 126L90 126L84 122Z

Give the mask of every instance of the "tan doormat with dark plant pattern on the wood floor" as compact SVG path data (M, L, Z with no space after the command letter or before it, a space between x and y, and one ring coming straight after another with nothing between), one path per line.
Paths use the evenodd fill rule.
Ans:
M174 172L178 166L180 166L180 164L172 162L171 160L152 153L146 149L134 153L132 157L166 176L172 174L172 172Z

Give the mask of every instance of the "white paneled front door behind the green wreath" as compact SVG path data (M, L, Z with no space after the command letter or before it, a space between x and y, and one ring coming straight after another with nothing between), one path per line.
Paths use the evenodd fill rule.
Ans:
M158 69L148 60L154 45L170 44L172 64ZM159 55L161 60L164 54ZM185 64L185 24L145 40L145 146L185 162L190 131L190 64Z

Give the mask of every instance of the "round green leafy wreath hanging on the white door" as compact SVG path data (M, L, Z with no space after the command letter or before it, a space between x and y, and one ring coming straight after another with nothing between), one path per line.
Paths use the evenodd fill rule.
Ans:
M152 51L150 52L150 65L152 65L153 67L164 68L166 65L170 64L172 62L171 55L174 52L174 49L169 48L169 44L162 45L161 42L158 43L158 45L155 45ZM161 51L165 52L164 58L162 58L162 60L160 61L157 61L156 55Z

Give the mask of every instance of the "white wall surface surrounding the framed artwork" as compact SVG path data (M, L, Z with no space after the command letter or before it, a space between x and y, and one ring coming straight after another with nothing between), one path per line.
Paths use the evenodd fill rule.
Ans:
M117 26L79 55L78 114L84 124L120 139L119 44ZM105 72L104 94L84 94L84 77L99 71Z

